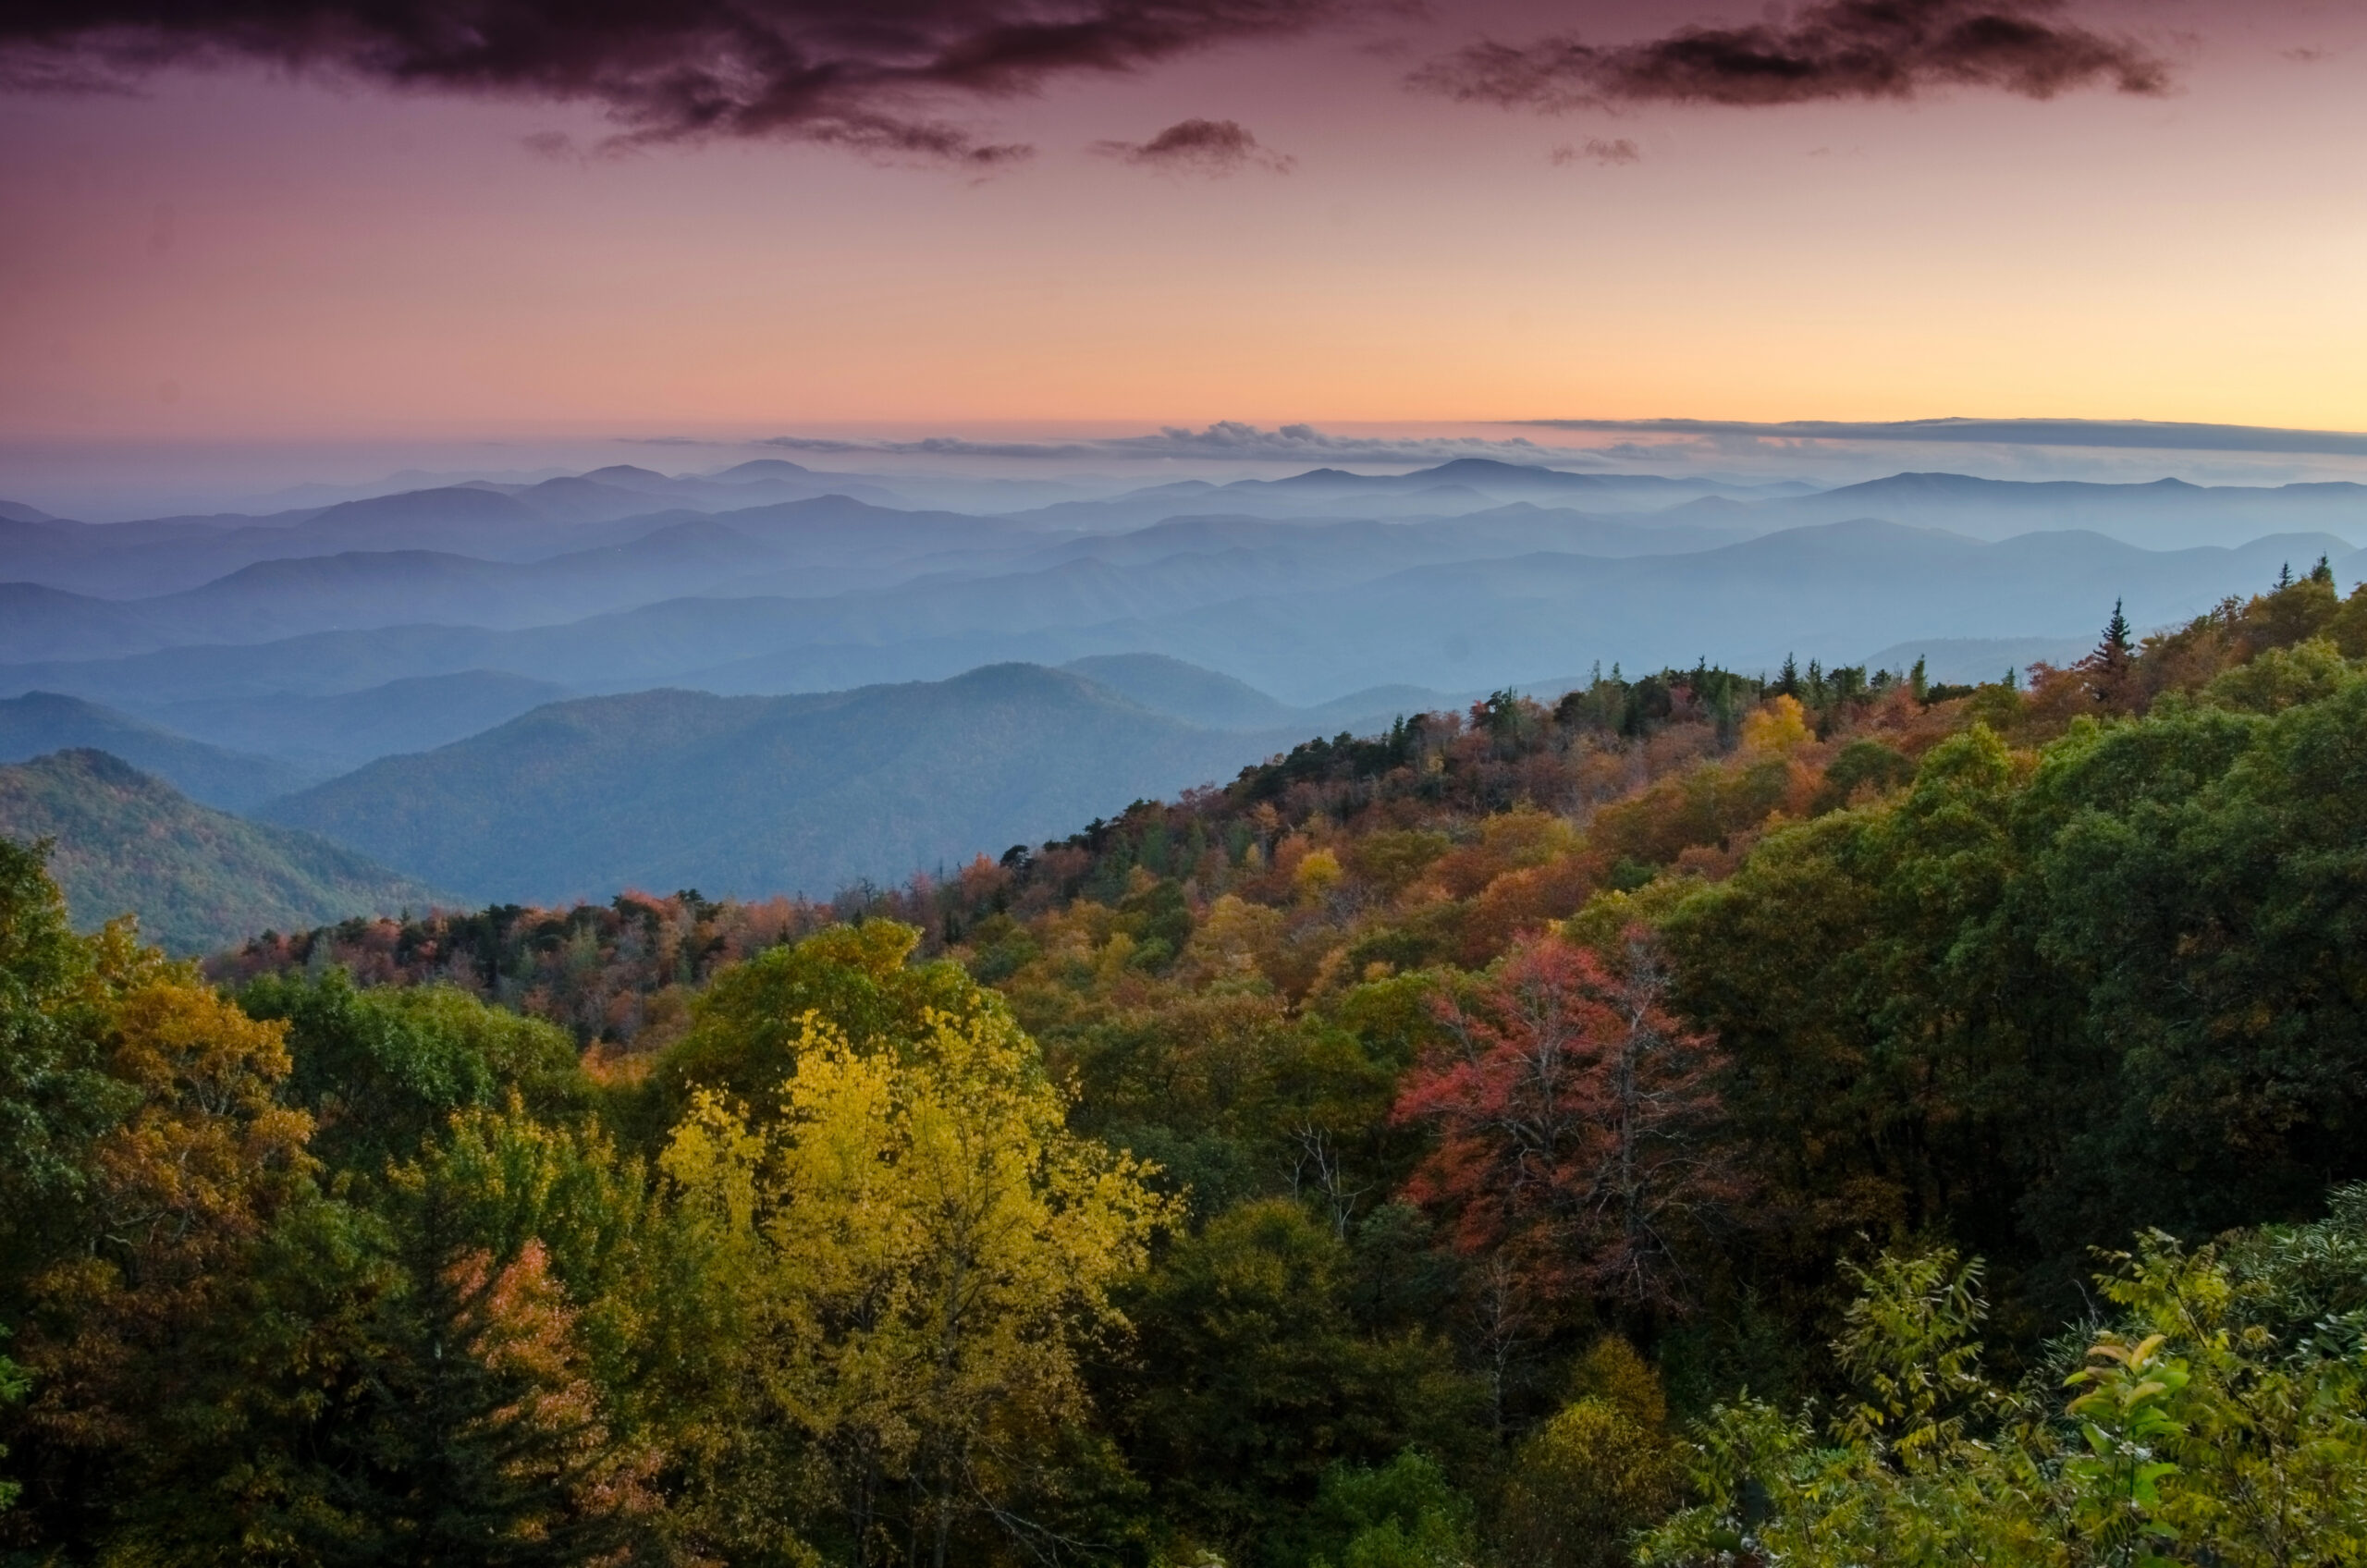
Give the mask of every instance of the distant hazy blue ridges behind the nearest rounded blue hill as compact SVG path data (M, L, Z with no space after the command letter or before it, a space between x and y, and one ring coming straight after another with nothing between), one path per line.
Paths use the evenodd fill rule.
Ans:
M1375 685L2059 642L2114 599L2178 618L2260 587L2282 552L2348 571L2367 542L2367 488L2348 483L1811 490L1543 455L1103 495L786 457L417 478L289 493L322 505L265 516L88 526L17 507L0 516L0 694L64 692L315 777L507 722L521 692L772 696L1013 661L1176 658L1292 722L1328 703L1361 720L1349 696ZM968 512L907 497L956 483ZM1068 500L1004 507L1046 493ZM405 682L452 682L452 713Z

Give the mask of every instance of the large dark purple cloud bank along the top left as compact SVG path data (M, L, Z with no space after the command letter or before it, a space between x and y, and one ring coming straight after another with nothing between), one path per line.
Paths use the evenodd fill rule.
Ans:
M1354 0L21 0L0 85L109 90L253 62L388 88L585 102L625 142L779 137L997 166L944 102L1304 31Z

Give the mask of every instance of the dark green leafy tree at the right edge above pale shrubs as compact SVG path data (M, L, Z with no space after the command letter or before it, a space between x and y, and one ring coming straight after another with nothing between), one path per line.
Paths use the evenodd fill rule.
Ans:
M2014 812L2012 926L2078 1007L2050 1054L2076 1078L2043 1099L2083 1113L2026 1206L2066 1251L2303 1213L2367 1175L2367 680L2320 675L2272 713L2076 727Z

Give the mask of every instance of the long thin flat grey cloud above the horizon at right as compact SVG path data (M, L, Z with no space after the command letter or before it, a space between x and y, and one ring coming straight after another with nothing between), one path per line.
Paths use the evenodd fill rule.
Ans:
M2367 457L2367 433L2289 431L2258 424L2173 424L2161 419L1522 419L1553 431L1612 431L1633 436L1744 436L1756 441L1927 441L1969 445L2121 448L2147 452L2289 452ZM1617 450L1617 448L1607 448Z

